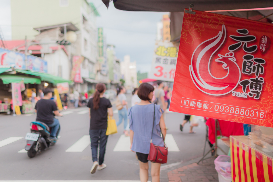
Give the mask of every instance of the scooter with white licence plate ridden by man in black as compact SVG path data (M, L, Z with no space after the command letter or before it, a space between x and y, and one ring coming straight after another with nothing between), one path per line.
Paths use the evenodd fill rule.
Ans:
M58 137L60 127L57 131L56 137ZM30 132L27 133L25 139L26 147L25 150L28 151L28 157L35 157L37 152L41 153L47 150L49 147L56 145L57 140L50 138L51 127L40 121L33 121L30 123Z

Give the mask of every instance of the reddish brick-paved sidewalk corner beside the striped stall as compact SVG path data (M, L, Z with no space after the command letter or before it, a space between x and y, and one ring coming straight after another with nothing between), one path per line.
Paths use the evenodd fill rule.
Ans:
M179 166L166 170L160 181L168 182L218 182L218 174L214 168L214 157L197 162L200 158L182 163ZM184 165L183 165L184 164ZM166 179L167 177L167 179ZM164 179L165 178L165 179Z

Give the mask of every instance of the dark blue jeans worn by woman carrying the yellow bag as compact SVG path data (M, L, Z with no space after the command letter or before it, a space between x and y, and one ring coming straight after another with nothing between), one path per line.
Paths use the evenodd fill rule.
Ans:
M106 129L89 130L91 151L93 162L98 161L98 145L99 145L99 165L102 165L104 161L104 154L106 149L106 143L108 135Z

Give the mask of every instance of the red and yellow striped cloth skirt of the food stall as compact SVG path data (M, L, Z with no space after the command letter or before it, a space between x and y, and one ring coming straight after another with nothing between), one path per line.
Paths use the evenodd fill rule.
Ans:
M251 148L246 139L230 136L232 182L273 182L273 159Z

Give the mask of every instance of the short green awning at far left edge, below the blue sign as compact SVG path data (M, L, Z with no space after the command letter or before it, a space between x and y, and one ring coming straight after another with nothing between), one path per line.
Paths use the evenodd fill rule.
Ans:
M3 81L3 84L9 83L19 83L20 81L24 81L25 84L41 84L41 80L39 78L31 78L27 76L19 76L19 75L11 75L11 74L3 74L0 75L0 79Z

